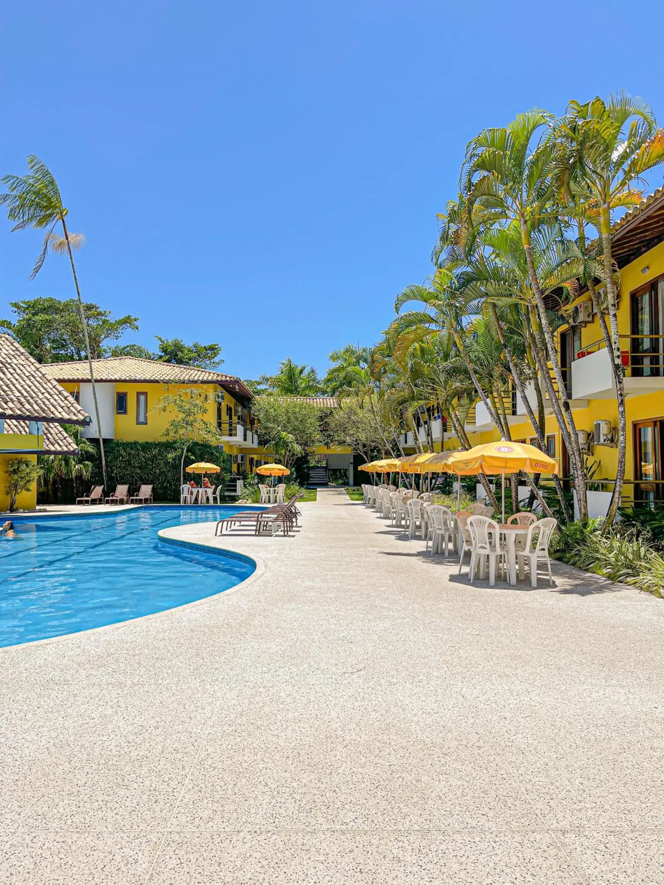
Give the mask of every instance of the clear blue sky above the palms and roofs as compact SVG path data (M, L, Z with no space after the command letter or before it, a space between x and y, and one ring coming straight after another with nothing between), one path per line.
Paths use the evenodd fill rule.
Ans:
M50 166L88 241L84 298L139 317L126 341L220 342L245 378L379 337L429 273L479 129L619 89L664 119L655 3L5 0L2 17L0 172ZM0 219L0 316L72 296L62 258L28 281L39 246Z

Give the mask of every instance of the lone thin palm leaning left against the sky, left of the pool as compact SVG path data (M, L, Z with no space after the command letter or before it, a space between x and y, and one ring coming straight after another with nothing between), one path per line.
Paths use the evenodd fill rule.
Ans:
M10 221L16 222L14 227L12 227L12 231L23 230L26 227L35 227L37 230L46 230L46 235L43 238L42 251L35 261L35 266L30 274L31 280L34 280L37 273L42 269L49 247L56 253L60 255L66 253L69 257L69 264L72 267L73 285L76 289L79 311L81 312L81 326L83 327L85 349L88 355L90 384L92 386L92 399L95 404L95 418L97 419L99 450L102 458L102 473L104 474L105 485L106 459L104 457L104 440L102 439L102 425L99 419L99 406L97 404L95 373L92 366L92 354L90 352L88 321L85 317L81 289L79 288L78 276L76 275L76 267L73 263L73 251L80 249L84 241L81 234L72 234L67 228L66 216L68 210L62 202L58 182L50 173L48 166L42 163L40 158L31 154L27 158L27 167L30 170L27 175L4 175L0 180L5 188L7 188L6 193L0 194L0 204L7 206L7 218ZM55 233L55 228L58 227L58 225L62 226L63 235L61 237Z

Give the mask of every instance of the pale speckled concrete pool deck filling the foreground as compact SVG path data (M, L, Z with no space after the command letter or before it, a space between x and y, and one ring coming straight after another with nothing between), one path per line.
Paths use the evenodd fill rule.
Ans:
M343 491L239 588L0 650L0 882L664 882L664 601L471 587Z

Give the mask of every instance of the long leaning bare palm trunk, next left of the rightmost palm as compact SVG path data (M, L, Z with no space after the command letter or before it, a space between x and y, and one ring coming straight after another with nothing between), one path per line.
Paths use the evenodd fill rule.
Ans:
M576 489L576 498L579 505L579 519L582 522L588 521L588 498L586 494L586 481L585 481L585 466L583 464L583 456L581 454L581 446L579 445L579 438L576 434L576 426L574 420L574 414L572 412L571 405L569 404L569 400L567 398L567 388L565 386L565 381L562 377L562 371L560 369L560 361L558 359L558 351L555 347L555 342L553 341L553 333L551 324L549 323L549 318L546 315L546 305L544 304L544 296L542 294L542 289L539 285L539 279L537 277L537 270L535 267L535 260L533 258L532 246L530 244L530 235L528 229L528 222L525 217L521 217L521 241L523 243L523 250L526 255L526 263L528 265L528 272L530 277L530 282L532 283L533 291L535 293L535 300L537 302L537 313L539 314L540 326L542 327L542 332L544 334L544 341L546 342L546 349L548 350L548 356L551 359L553 374L555 375L556 382L558 384L558 396L560 396L560 403L562 405L562 412L564 412L565 418L560 423L560 432L563 430L567 431L567 451L569 452L570 461L574 468L574 479L575 479L575 489ZM539 358L541 358L541 353L538 354ZM542 371L542 366L540 366L540 370ZM555 392L553 391L553 385L551 381L551 376L549 374L548 366L544 364L544 381L547 382L547 389L549 390L549 396L552 400L552 405L554 401L557 400L555 396ZM558 416L556 416L558 419ZM562 418L562 415L560 416ZM566 423L567 421L567 423Z

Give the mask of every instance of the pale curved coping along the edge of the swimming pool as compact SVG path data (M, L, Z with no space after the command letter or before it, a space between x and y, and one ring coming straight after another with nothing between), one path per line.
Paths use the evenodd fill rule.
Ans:
M139 506L150 506L140 504ZM152 506L155 506L152 504ZM172 504L171 506L177 507L178 504ZM137 508L136 508L137 509ZM23 514L21 514L23 515ZM36 515L36 514L35 514ZM46 515L46 514L40 514ZM58 516L69 516L72 514L53 514ZM78 513L73 514L74 516L78 516ZM100 516L103 514L100 513L81 513L81 516ZM212 520L211 522L200 522L198 525L200 526L213 526L216 524L216 520ZM126 627L127 624L135 624L139 621L151 620L154 618L159 618L161 615L166 615L169 612L177 612L180 609L191 608L193 605L204 605L206 603L214 602L215 600L220 599L221 596L228 596L229 593L235 593L236 590L244 589L249 586L254 581L257 581L260 577L263 576L266 572L266 564L263 559L260 557L249 556L246 553L239 553L237 550L228 550L226 547L217 547L215 544L205 543L205 542L197 542L197 541L182 541L180 538L170 538L163 535L164 532L173 531L174 529L180 528L180 526L171 526L166 528L160 528L157 532L158 540L161 543L173 544L176 547L189 547L191 550L203 550L205 553L213 553L217 556L228 557L229 559L239 559L244 562L253 563L254 570L251 572L248 577L246 577L243 581L240 581L237 584L234 584L233 587L229 587L226 590L220 590L219 593L212 593L211 596L202 596L200 599L194 599L190 603L182 603L181 605L173 605L171 608L162 609L160 612L151 612L151 614L143 614L138 618L127 618L127 620L119 620L113 624L102 624L101 627L89 627L87 630L76 630L73 633L63 633L60 636L46 636L44 639L33 639L28 643L15 643L14 645L3 645L0 646L0 655L7 654L16 649L27 649L33 648L35 645L44 645L46 643L61 643L67 639L73 639L76 636L84 636L92 633L99 633L102 630L117 630L121 627Z

